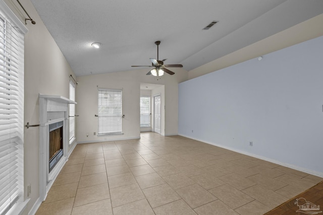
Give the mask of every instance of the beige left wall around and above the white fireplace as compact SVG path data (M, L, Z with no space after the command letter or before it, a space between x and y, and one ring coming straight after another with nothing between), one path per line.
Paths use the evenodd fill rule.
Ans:
M17 12L16 1L7 1L17 17L25 22ZM36 21L27 21L25 35L25 105L24 124L39 124L38 94L69 97L69 76L74 75L61 50L40 20L29 0L22 1L28 14ZM22 10L22 9L20 9ZM27 198L27 185L31 184L30 201L25 210L27 214L39 197L38 180L39 128L24 129L24 190Z

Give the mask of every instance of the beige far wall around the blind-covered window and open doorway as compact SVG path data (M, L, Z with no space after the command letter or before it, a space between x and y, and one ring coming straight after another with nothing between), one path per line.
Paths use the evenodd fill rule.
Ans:
M170 91L165 92L165 108L169 115L165 118L165 135L178 133L178 83L188 79L188 73L182 68L172 69L175 75L164 75L160 80L146 76L146 69L107 73L100 75L80 76L76 89L78 121L77 141L95 142L140 137L140 83L165 85ZM99 88L123 89L123 133L124 135L100 136L97 133L97 86ZM153 91L152 91L153 94ZM176 101L176 102L173 102ZM89 136L86 136L89 133Z

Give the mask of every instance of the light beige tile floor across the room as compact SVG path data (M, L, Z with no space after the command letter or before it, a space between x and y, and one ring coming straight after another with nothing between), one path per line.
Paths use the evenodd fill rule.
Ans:
M36 214L263 214L323 178L182 136L77 145Z

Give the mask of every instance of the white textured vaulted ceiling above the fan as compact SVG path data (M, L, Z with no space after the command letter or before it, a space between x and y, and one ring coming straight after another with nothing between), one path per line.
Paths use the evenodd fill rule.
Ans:
M159 59L191 70L323 13L322 0L31 2L77 76L149 65L156 40Z

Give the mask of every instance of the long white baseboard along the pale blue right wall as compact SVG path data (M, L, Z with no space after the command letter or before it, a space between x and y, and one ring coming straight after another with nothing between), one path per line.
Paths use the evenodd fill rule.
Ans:
M234 148L231 148L231 147L227 147L227 146L224 146L224 145L215 144L214 142L205 141L203 139L195 138L195 137L192 137L192 136L189 136L189 135L185 135L185 134L181 134L181 133L179 133L178 135L181 135L181 136L184 136L184 137L187 137L187 138L190 138L190 139L194 139L194 140L197 140L197 141L205 142L206 144L209 144L209 145L212 145L212 146L221 147L223 149L227 149L227 150L230 150L230 151L233 151L233 152L237 152L237 153L240 153L240 154L243 154L243 155L258 158L258 159L261 159L261 160L264 160L264 161L268 161L268 162L271 162L271 163L274 163L274 164L278 164L278 165L281 165L281 166L284 166L284 167L288 167L288 168L291 168L291 169L294 169L294 170L298 170L298 171L301 171L301 172L305 172L305 173L308 173L308 174L315 175L315 176L323 178L323 173L321 173L321 172L316 172L316 171L306 169L306 168L303 168L303 167L299 167L299 166L296 166L296 165L293 165L293 164L283 163L283 162L280 162L278 160L274 160L274 159L271 159L271 158L263 157L263 156L260 156L260 155L256 155L256 154L252 154L252 153L248 153L248 152L244 152L244 151L240 151L240 150L237 150L237 149L234 149Z

